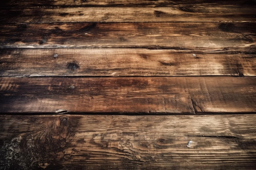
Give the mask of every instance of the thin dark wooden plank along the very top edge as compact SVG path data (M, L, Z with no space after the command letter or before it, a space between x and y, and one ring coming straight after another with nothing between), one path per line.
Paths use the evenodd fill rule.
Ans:
M2 0L1 8L27 7L193 7L256 6L255 0Z

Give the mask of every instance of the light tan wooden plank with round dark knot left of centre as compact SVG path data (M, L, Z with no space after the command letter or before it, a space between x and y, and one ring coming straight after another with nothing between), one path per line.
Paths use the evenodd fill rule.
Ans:
M256 76L255 54L225 53L148 49L2 49L0 76Z

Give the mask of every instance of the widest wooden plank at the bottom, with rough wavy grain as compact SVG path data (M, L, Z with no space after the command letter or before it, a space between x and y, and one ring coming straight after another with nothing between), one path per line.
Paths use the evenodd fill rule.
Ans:
M6 169L255 169L256 115L0 116Z

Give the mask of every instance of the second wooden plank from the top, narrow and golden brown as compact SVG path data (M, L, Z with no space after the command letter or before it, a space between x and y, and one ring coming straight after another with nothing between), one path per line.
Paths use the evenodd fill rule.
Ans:
M75 7L0 9L2 23L256 22L255 7Z

